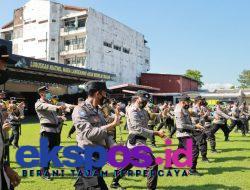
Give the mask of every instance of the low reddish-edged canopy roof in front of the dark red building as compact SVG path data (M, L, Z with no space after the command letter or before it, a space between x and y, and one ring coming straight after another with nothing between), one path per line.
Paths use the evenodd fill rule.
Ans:
M130 84L130 83L125 83L125 84L121 84L121 85L117 85L117 86L111 86L111 87L109 87L109 90L112 90L112 91L115 91L115 90L131 90L131 91L146 90L149 92L160 91L159 88L138 85L138 84Z

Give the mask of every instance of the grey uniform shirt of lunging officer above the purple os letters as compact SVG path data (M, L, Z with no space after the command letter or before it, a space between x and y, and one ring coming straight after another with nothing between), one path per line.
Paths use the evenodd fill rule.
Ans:
M145 109L137 108L131 104L127 111L127 125L129 134L140 135L144 138L151 138L154 131L148 129L149 116ZM138 139L135 145L127 143L128 148L138 145L146 145L145 140Z

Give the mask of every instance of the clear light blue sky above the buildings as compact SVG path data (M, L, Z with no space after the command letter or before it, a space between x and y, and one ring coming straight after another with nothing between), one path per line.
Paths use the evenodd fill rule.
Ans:
M28 0L0 0L0 26ZM55 0L92 7L143 33L154 73L200 70L205 86L238 85L250 69L249 0ZM7 3L8 2L8 3Z

